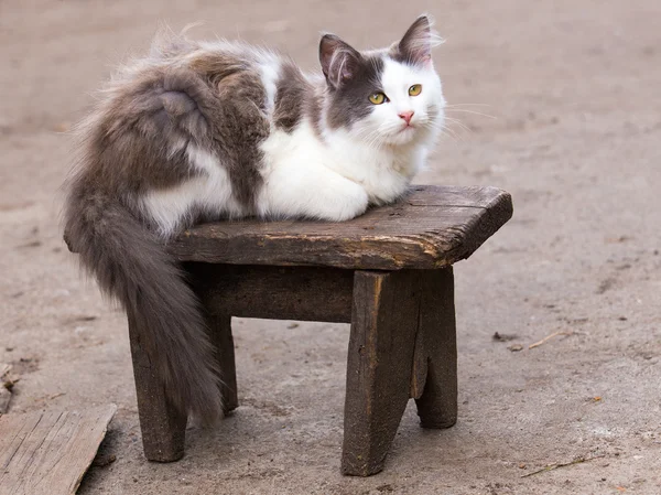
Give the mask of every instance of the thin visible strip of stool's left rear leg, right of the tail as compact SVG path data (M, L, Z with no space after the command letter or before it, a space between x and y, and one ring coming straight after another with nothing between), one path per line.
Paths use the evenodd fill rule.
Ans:
M207 315L207 326L212 343L216 347L218 369L223 385L223 409L225 413L234 411L239 406L237 397L237 368L234 354L234 338L231 336L231 316Z

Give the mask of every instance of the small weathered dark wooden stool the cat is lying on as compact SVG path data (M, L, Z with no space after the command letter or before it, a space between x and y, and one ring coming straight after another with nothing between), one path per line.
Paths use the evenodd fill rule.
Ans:
M206 312L227 411L238 406L231 316L351 323L342 472L368 476L382 470L410 398L423 428L456 422L452 265L511 215L510 195L494 187L416 186L350 222L206 224L167 250ZM175 461L186 418L165 399L128 318L144 454Z

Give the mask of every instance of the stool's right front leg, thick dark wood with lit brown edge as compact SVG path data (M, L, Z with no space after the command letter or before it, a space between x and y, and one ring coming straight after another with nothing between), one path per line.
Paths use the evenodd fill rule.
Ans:
M411 271L354 276L344 474L369 476L383 469L409 401L419 287L419 277Z

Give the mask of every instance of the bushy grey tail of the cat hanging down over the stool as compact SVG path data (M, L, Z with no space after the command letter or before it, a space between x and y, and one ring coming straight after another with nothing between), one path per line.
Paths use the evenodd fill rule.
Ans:
M172 403L215 422L223 410L219 377L194 292L154 234L119 201L77 179L64 211L69 249L141 329L140 344Z

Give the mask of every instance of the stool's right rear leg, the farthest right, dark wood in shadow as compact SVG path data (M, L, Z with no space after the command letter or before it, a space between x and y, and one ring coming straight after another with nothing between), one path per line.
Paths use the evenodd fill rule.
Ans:
M421 275L422 301L414 368L424 388L416 398L423 428L449 428L457 421L457 341L452 267ZM424 368L426 367L426 373ZM419 373L413 373L413 376ZM412 394L416 397L415 394Z

